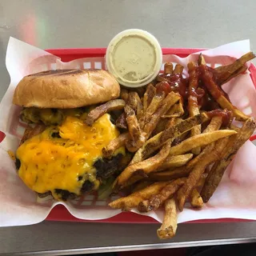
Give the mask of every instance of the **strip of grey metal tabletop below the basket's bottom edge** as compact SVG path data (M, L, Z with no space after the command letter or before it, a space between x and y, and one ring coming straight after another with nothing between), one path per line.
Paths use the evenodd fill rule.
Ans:
M256 242L255 222L181 224L176 237L159 241L158 225L42 222L34 226L0 229L0 252L21 255L88 254L122 250L166 249ZM2 247L3 246L3 247ZM3 248L3 249L2 249Z

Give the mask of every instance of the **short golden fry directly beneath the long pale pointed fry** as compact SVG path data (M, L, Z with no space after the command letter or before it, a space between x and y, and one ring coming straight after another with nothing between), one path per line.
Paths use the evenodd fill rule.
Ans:
M193 154L181 154L168 156L165 162L162 163L162 166L158 168L158 171L166 170L166 169L174 169L180 166L185 166L190 159L193 158Z

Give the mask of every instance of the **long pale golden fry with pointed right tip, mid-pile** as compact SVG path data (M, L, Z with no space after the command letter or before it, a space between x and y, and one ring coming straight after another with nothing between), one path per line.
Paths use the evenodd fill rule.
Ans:
M225 138L236 133L234 130L214 130L210 133L195 135L194 137L187 138L177 146L171 147L170 155L185 154L195 147L206 146L220 138Z

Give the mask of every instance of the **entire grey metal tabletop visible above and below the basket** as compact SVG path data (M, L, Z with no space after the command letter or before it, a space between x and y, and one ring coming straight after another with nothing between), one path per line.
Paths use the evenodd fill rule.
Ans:
M42 49L101 47L121 30L140 28L164 47L214 47L250 38L254 50L255 11L254 0L0 0L0 98L9 84L4 58L10 36ZM170 241L159 241L156 229L68 222L0 228L0 254L82 254L256 241L256 222L182 224Z

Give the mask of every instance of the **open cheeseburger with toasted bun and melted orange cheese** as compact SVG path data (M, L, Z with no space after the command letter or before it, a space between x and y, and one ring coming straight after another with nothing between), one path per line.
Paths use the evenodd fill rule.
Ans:
M26 186L40 197L65 201L98 190L120 171L124 148L102 158L102 148L119 135L110 114L85 122L91 109L119 94L106 70L49 70L22 78L13 103L23 107L22 121L30 123L16 152Z

